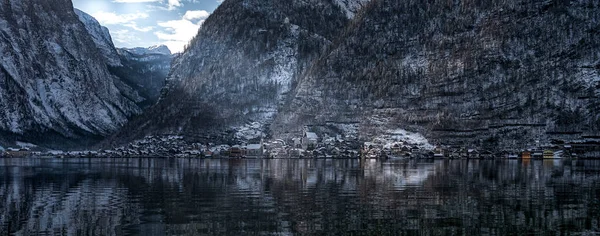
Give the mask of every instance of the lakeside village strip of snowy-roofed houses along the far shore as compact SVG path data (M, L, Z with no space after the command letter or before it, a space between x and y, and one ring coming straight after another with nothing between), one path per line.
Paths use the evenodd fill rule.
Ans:
M594 159L600 157L600 142L556 141L526 150L491 151L475 147L429 145L414 139L391 138L410 136L393 133L370 142L360 142L354 136L320 137L305 130L302 137L291 140L263 140L236 145L189 143L183 136L147 136L126 146L111 150L60 151L43 150L36 145L17 142L17 147L0 147L0 157L23 158L321 158L321 159ZM412 141L412 142L411 142Z

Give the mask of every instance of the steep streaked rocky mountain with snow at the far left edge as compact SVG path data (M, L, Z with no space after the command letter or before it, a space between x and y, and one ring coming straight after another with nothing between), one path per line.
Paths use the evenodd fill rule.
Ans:
M3 1L0 35L3 141L82 144L141 112L69 0Z

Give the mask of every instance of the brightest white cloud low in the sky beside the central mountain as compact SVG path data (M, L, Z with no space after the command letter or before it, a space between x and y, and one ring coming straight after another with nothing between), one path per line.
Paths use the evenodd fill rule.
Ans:
M187 11L181 20L158 22L158 26L163 30L154 32L154 35L171 51L181 52L183 47L198 34L200 26L209 15L207 11Z

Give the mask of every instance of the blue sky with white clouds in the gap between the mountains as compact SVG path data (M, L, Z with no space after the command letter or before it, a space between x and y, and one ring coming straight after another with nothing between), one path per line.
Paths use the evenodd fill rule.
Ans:
M164 44L173 52L198 32L222 0L73 0L108 27L117 47Z

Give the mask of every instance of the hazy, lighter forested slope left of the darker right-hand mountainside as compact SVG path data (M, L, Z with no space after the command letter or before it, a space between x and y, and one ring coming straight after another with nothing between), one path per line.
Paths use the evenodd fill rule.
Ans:
M225 1L174 60L159 103L121 135L265 124L347 22L333 1Z

